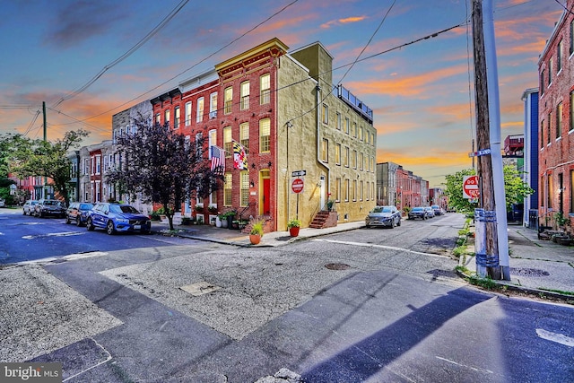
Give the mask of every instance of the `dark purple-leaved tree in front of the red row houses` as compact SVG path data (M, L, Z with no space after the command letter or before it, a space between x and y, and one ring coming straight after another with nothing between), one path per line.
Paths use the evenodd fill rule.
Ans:
M143 195L144 202L161 204L173 230L173 215L186 197L208 197L221 187L221 174L204 158L204 139L188 140L169 126L139 116L135 133L117 138L123 163L108 173L120 192Z

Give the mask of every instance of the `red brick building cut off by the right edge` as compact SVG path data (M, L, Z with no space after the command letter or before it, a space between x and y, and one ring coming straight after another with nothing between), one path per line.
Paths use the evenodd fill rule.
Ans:
M574 0L566 8L574 9ZM565 11L538 61L539 216L574 221L574 13Z

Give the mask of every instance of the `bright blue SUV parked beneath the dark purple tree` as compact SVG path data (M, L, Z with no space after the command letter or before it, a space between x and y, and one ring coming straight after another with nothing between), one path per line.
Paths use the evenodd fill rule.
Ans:
M147 234L152 230L152 220L132 205L99 203L88 213L86 227L105 229L109 235L116 231L140 231Z

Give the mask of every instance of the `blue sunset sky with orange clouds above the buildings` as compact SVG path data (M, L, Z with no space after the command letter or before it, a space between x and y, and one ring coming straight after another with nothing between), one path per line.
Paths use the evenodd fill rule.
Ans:
M472 167L472 0L3 3L0 134L42 138L45 101L48 140L79 128L91 132L83 144L108 140L117 112L276 37L291 50L326 47L333 82L373 109L377 162L430 187ZM521 97L538 86L565 3L492 0L502 140L523 132Z

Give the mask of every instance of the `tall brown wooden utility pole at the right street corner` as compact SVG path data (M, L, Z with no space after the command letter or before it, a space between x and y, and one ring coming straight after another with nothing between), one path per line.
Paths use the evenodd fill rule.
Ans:
M486 54L483 34L483 3L473 0L473 46L474 46L474 94L476 104L476 147L478 151L490 149L490 118L488 103L488 83ZM499 248L496 229L496 205L491 155L481 155L477 159L477 174L481 190L481 206L484 216L485 254L476 254L477 273L492 279L500 279Z

